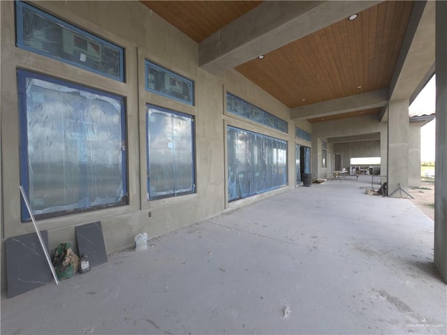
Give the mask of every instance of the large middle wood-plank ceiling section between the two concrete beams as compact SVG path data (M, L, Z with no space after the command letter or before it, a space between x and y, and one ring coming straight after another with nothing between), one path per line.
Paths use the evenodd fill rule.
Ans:
M236 70L288 107L387 88L412 6L385 1Z

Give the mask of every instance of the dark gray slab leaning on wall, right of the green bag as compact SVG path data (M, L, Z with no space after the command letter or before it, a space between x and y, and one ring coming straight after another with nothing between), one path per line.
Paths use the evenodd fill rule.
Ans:
M90 267L101 265L107 262L107 253L105 253L105 244L101 222L87 223L87 225L78 225L75 228L76 238L78 239L79 255L82 258L87 253L89 256Z

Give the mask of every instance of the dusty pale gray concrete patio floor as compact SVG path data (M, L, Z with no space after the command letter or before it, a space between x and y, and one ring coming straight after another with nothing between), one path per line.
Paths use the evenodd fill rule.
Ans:
M446 334L433 221L367 187L296 188L3 294L1 334Z

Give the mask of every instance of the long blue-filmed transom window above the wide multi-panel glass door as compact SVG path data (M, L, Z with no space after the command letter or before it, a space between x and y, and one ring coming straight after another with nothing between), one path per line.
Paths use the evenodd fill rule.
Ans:
M245 119L255 121L264 126L269 126L270 128L277 129L283 133L288 133L287 121L279 119L279 117L275 117L269 112L265 112L265 110L261 110L261 108L251 105L251 103L248 103L229 92L226 92L226 109L227 112L239 115Z

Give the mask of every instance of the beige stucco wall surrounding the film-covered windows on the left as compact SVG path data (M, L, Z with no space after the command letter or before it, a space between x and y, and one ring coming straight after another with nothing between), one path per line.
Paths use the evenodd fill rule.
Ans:
M34 232L31 223L20 222L19 125L16 68L86 84L126 97L128 206L89 211L39 221L48 230L50 250L61 241L75 242L75 225L101 221L108 253L133 244L139 232L154 237L216 215L227 208L254 202L294 187L295 131L289 109L236 71L213 76L198 68L196 42L167 24L139 1L38 1L41 8L63 20L125 48L126 82L117 82L88 70L75 68L15 47L13 1L1 2L1 158L3 197L2 239ZM144 62L189 77L196 85L196 105L149 93L145 90ZM289 121L288 134L224 114L225 90ZM196 117L197 193L163 200L146 200L145 105L152 103ZM7 112L6 112L7 111ZM288 141L289 185L240 202L226 201L226 125L238 126ZM309 128L309 127L307 127ZM7 158L7 159L6 159ZM149 217L149 212L151 216ZM74 243L75 244L75 243ZM1 283L5 287L4 253Z

